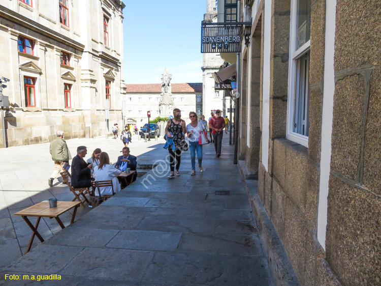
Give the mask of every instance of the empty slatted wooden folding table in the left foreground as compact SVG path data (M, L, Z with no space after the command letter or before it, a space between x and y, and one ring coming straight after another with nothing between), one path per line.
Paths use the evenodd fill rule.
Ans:
M49 218L55 218L59 224L59 226L63 229L65 228L65 225L63 225L62 221L59 219L59 215L66 213L67 211L71 210L72 208L74 209L72 220L70 223L74 222L75 215L77 213L77 209L81 202L57 202L57 207L55 208L50 208L49 207L49 202L44 201L41 203L38 203L34 206L31 206L29 208L23 209L22 211L19 211L15 213L15 215L20 215L26 222L26 224L30 227L30 229L33 231L33 234L30 237L29 245L28 248L26 249L26 253L29 252L31 245L33 244L33 240L35 239L35 236L39 238L41 242L44 242L44 239L42 236L39 234L37 231L37 228L39 227L39 223L41 220L41 217L49 217ZM37 222L35 226L30 222L28 219L28 216L37 216Z

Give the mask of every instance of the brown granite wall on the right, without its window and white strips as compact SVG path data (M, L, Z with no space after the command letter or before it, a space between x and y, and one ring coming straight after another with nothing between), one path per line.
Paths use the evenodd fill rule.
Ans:
M259 163L258 194L301 285L379 285L381 3L337 0L325 250L317 240L317 206L326 1L311 1L308 148L285 138L290 3L272 1L269 162L267 170ZM262 114L259 120L262 130Z

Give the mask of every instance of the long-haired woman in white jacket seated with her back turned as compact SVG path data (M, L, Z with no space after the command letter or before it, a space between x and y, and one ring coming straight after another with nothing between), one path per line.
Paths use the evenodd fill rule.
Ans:
M94 168L94 179L96 181L112 180L114 192L120 192L120 184L117 176L121 173L120 170L110 164L109 155L106 152L102 152L99 156L99 165ZM112 195L111 187L100 187L101 195ZM95 195L99 195L98 188L95 191Z

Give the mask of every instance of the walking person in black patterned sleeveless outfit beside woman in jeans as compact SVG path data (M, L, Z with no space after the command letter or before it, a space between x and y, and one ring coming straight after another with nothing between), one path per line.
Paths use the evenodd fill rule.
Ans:
M170 119L166 126L167 138L173 139L175 150L172 146L168 147L168 152L170 155L169 165L171 168L171 174L167 177L168 179L175 178L175 162L176 162L176 176L180 176L179 168L181 162L182 151L188 150L188 145L186 144L184 134L186 133L185 121L181 119L181 110L178 108L173 109L173 119Z

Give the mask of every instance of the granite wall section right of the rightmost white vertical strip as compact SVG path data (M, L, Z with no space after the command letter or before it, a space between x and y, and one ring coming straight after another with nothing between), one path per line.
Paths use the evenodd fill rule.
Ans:
M326 260L342 285L381 283L380 16L337 0Z

